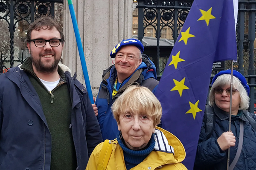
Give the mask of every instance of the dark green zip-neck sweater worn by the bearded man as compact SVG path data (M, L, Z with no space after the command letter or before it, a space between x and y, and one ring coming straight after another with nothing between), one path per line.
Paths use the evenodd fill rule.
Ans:
M71 100L64 71L58 68L61 80L49 92L33 71L30 57L24 61L20 68L27 72L38 93L52 136L51 170L76 170L76 152L72 131L69 128L71 124Z

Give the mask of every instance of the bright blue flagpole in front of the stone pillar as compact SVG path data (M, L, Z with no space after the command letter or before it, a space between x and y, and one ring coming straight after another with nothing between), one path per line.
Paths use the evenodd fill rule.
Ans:
M71 15L71 19L72 19L72 23L73 23L73 27L74 27L75 36L76 36L76 43L77 43L77 48L78 48L78 51L79 51L79 56L80 56L80 60L81 60L83 74L84 74L85 86L86 86L86 89L88 91L90 102L92 104L94 104L93 93L92 93L92 89L91 89L91 86L90 86L90 79L89 79L87 66L86 66L86 62L85 62L85 57L84 57L84 50L83 50L83 46L82 46L82 42L81 42L81 37L80 37L80 33L79 33L78 24L77 24L77 21L76 21L75 9L74 9L72 0L67 0L67 2L68 2L69 9L70 9L70 15Z

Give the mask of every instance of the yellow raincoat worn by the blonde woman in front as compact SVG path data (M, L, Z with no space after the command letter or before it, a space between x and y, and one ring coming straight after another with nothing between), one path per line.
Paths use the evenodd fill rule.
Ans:
M174 154L153 150L140 164L131 168L131 170L187 170L187 168L180 163L186 156L183 144L172 133L160 127L157 127L157 129L166 136L169 145L173 147ZM126 170L122 148L117 140L113 140L111 143L112 154L108 162L107 170ZM98 158L102 146L103 142L95 147L90 156L86 170L97 170Z

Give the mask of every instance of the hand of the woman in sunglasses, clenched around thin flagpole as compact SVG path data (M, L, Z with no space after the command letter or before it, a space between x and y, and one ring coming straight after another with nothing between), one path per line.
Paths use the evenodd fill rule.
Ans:
M217 139L217 142L221 147L221 150L224 151L227 150L229 147L236 145L236 137L232 132L224 132Z

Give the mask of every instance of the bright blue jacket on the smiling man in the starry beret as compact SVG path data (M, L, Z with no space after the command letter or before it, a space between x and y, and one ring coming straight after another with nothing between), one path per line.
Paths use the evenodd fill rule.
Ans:
M118 126L113 117L111 106L113 102L125 91L125 89L134 82L155 91L158 85L156 67L154 63L143 54L143 60L140 66L134 73L122 82L118 92L112 98L113 85L117 77L116 68L114 65L104 71L102 75L102 83L99 88L99 93L95 104L98 107L98 121L102 131L103 140L116 138Z

